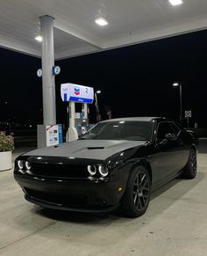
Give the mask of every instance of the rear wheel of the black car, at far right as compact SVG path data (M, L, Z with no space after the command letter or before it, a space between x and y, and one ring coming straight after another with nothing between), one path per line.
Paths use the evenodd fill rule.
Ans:
M184 179L194 179L197 172L197 160L196 160L196 150L189 150L189 159L187 165L184 167L182 172L182 178Z

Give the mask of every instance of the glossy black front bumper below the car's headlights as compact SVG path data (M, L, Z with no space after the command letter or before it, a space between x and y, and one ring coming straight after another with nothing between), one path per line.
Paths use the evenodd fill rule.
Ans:
M117 179L70 180L49 179L14 172L14 178L25 192L25 199L44 208L82 212L110 212L118 208L124 189Z

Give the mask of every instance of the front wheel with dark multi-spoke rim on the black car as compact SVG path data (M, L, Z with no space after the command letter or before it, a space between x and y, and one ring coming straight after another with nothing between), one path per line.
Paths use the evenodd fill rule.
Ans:
M146 167L139 165L129 176L121 211L124 216L138 217L146 212L150 201L151 180Z

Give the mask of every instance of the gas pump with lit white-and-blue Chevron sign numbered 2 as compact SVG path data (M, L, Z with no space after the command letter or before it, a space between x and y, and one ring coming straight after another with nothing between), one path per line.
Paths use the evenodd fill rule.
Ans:
M93 103L94 89L79 84L61 84L61 99L68 102L69 126L66 140L75 141L89 130L88 104ZM75 112L75 103L82 104L82 113Z

